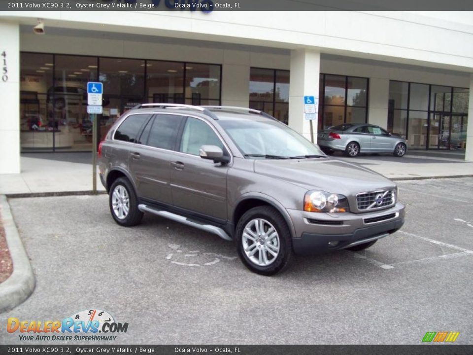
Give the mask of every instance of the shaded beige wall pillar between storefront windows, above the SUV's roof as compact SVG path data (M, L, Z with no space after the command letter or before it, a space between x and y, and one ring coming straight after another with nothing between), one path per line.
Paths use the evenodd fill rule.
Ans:
M249 53L225 50L222 65L222 105L248 107L249 89Z

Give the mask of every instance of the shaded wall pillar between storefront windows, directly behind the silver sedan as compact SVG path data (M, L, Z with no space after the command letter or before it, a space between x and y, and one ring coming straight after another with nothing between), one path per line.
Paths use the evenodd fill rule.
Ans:
M368 122L388 128L389 79L370 78Z

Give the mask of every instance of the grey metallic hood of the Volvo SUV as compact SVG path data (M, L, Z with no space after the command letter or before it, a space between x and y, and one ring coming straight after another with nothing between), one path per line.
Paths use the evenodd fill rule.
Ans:
M285 180L307 190L323 190L345 196L396 186L370 169L333 158L256 159L255 173Z

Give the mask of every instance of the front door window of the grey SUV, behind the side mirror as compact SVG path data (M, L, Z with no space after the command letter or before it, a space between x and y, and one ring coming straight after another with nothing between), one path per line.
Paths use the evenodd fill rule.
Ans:
M194 117L188 117L179 151L199 155L202 145L216 145L224 150L222 141L207 123Z

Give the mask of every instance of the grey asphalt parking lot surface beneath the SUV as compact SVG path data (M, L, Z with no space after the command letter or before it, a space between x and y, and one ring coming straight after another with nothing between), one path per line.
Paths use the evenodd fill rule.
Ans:
M129 323L117 344L420 344L427 331L472 344L473 178L399 186L401 231L271 278L214 235L150 215L119 227L105 195L11 199L36 289L2 322L98 308ZM25 342L1 326L0 343Z

